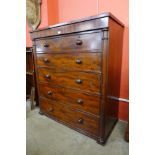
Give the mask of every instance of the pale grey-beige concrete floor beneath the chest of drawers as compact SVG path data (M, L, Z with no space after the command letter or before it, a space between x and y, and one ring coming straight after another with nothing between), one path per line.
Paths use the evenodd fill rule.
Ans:
M26 155L128 155L126 123L118 122L105 146L44 115L27 109Z

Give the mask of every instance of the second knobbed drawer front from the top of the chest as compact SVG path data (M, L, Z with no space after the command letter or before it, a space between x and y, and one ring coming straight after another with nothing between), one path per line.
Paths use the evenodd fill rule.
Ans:
M37 54L37 65L59 70L101 70L101 53Z

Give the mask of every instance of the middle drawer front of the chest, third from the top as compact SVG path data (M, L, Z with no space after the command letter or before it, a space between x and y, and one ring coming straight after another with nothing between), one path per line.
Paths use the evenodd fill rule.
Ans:
M47 68L38 68L39 81L50 82L66 88L93 93L100 92L100 74L85 72L55 72Z

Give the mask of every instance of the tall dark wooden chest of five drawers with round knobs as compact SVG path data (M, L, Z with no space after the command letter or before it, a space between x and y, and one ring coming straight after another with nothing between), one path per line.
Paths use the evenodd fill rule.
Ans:
M118 119L123 24L103 13L30 34L40 113L104 144Z

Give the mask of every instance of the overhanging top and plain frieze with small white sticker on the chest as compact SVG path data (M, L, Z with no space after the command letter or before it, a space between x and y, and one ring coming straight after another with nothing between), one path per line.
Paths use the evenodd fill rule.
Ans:
M109 12L100 15L90 16L70 22L60 23L45 28L40 28L30 32L32 40L36 38L44 38L49 36L57 36L74 32L83 32L97 29L107 29L109 27L109 19L114 20L122 27L123 23Z

